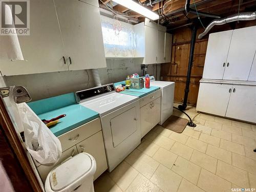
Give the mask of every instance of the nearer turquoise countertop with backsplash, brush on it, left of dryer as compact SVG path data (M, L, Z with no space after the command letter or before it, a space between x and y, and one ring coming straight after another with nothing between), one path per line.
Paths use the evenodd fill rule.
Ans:
M76 104L74 93L41 99L27 104L40 119L50 120L62 114L67 115L59 119L56 125L50 127L55 136L60 136L99 117L97 112Z

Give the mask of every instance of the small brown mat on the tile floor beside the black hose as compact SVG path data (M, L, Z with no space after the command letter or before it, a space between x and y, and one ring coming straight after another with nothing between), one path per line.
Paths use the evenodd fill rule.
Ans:
M162 127L177 133L182 133L187 123L187 119L172 115L162 124Z

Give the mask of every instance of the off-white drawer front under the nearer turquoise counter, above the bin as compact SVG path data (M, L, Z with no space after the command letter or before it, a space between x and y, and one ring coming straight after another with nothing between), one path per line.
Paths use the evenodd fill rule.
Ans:
M82 140L92 136L93 134L101 130L100 119L94 119L86 124L83 124L77 127L74 130L71 130L65 134L62 134L58 137L62 151L67 150L71 146L81 142Z

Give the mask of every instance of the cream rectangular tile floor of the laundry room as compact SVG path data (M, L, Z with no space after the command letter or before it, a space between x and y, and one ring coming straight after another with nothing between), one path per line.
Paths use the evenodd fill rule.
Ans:
M186 112L196 116L194 129L177 134L155 126L112 173L94 182L95 192L256 188L256 125L198 114L189 106ZM186 118L178 110L174 115Z

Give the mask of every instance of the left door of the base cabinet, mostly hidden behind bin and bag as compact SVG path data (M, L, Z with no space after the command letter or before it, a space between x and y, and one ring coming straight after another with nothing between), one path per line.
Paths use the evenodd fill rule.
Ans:
M60 163L62 163L63 161L65 161L66 159L68 159L69 157L72 157L72 156L75 156L77 155L77 148L76 146L72 146L71 148L69 148L68 150L66 150L65 152L62 152L60 158L59 158L59 161L52 165L52 166L46 166L46 165L39 165L37 167L37 170L38 170L38 173L42 179L42 182L45 183L46 181L46 178L49 174L49 172L54 168L56 167L57 165L59 165Z

